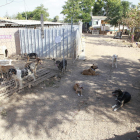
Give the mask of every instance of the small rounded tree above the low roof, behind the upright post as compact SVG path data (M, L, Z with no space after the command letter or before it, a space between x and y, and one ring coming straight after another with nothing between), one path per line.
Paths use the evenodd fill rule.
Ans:
M44 21L47 20L47 17L49 17L49 13L47 11L48 9L44 8L44 5L41 4L33 11L33 19L40 20L40 15L43 14Z

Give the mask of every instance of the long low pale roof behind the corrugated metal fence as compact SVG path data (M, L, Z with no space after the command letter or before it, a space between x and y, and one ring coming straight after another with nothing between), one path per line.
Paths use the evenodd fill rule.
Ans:
M25 26L25 25L40 25L41 22L37 20L13 20L13 19L3 19L0 18L0 26L3 25L13 25L13 26ZM60 22L49 22L44 21L44 25L62 25Z

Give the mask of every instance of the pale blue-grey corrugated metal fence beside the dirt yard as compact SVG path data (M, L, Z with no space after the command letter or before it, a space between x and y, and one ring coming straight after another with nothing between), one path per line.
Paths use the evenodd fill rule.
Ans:
M47 58L72 58L77 57L77 48L82 25L61 26L44 29L44 38L41 37L40 29L19 29L21 54L37 53L39 57ZM56 37L61 41L56 43ZM64 48L64 50L63 50Z

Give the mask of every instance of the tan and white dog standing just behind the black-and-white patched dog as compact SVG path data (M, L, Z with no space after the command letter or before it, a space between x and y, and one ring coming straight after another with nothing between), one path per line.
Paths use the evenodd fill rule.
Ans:
M42 60L40 58L37 58L36 61L25 64L25 68L30 69L31 72L33 72L34 75L37 76L36 69L39 64L42 64Z

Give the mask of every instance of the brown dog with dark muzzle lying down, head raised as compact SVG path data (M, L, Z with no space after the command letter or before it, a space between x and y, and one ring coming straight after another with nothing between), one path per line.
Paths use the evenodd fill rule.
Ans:
M83 75L99 75L98 73L95 72L95 69L98 69L97 66L95 66L94 64L90 67L90 69L87 70L83 70L82 74Z

